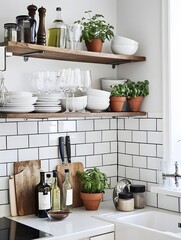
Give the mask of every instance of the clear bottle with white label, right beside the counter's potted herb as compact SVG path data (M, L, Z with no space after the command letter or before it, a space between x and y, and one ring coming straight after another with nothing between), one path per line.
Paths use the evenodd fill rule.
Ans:
M69 169L65 169L65 180L62 185L63 189L63 204L64 210L69 210L73 205L73 189L69 179Z

